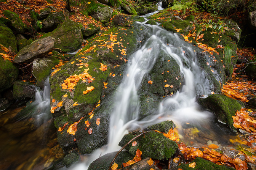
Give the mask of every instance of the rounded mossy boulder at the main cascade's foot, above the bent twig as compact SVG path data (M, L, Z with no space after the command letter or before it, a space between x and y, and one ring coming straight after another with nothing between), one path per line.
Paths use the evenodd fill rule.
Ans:
M118 145L123 147L137 135L138 134L132 133L125 135ZM152 159L165 160L173 156L178 149L176 142L168 139L162 133L155 131L147 132L133 141L136 141L137 145L132 146L132 143L130 143L125 149L128 150L131 155L135 155L137 149L141 150L142 158L150 157Z

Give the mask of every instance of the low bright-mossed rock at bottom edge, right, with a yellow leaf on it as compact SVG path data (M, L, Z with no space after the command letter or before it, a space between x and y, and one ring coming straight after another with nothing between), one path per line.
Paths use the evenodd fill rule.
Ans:
M193 162L195 162L195 168L190 168L188 164L181 164L178 165L175 170L178 170L178 168L181 168L182 170L234 170L232 167L227 167L226 165L217 165L201 157L197 157L191 163Z

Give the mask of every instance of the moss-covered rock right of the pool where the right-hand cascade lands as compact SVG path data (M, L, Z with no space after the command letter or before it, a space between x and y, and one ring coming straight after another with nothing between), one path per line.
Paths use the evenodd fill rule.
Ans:
M213 94L205 99L198 100L198 102L202 107L213 112L218 121L235 130L232 116L235 116L235 112L242 107L237 100L222 94Z

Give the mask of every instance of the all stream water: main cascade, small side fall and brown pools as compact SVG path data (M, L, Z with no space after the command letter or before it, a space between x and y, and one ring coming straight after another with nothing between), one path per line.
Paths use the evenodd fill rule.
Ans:
M154 13L145 15L146 21L139 23L150 27L150 36L129 57L125 71L127 76L124 76L122 83L120 83L116 93L113 95L111 102L115 103L115 107L110 117L108 144L95 150L92 154L83 156L82 162L70 168L61 169L87 170L90 163L100 156L120 150L121 147L118 146L118 143L129 131L145 128L165 120L174 121L178 127L181 141L189 143L190 146L204 146L207 143L209 144L209 142L222 146L230 145L229 138L232 136L232 133L229 129L221 124L216 124L213 114L200 110L196 102L198 97L202 95L206 97L206 94L209 94L210 91L208 90L207 82L202 78L202 71L197 65L195 47L180 39L175 33L166 31L157 25L147 25L146 17L152 14ZM184 55L183 51L186 51L189 57ZM180 71L184 74L184 83L181 90L173 96L166 96L159 102L158 108L155 108L153 115L139 119L141 105L138 91L141 89L144 76L153 68L160 52L164 52L178 63ZM184 65L183 61L186 61L187 65ZM37 108L34 116L29 117L29 120L31 118L36 122L34 125L31 124L34 130L30 134L34 135L26 134L20 137L22 140L17 136L6 138L8 134L1 135L1 141L7 139L7 141L1 143L1 155L8 155L7 158L1 159L5 159L7 162L19 160L15 166L13 165L16 168L12 168L12 166L6 168L2 165L1 169L47 169L46 160L49 161L51 157L63 157L61 149L56 144L55 132L52 132L51 128L45 129L45 127L53 125L50 115L49 86L46 85L44 91L37 89L35 101L31 105ZM19 107L16 112L23 108ZM14 111L12 112L14 114ZM0 113L0 115L5 114L4 111ZM15 117L16 115L13 116ZM24 120L27 120L27 118L23 117L19 122ZM11 144L11 146L8 146L8 144ZM37 149L35 150L34 148ZM29 160L32 162L29 165L22 163ZM51 164L51 161L48 163Z

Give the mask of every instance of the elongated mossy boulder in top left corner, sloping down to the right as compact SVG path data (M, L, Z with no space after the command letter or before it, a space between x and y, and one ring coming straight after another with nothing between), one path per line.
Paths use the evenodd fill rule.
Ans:
M3 11L3 15L11 20L11 25L8 26L13 30L14 33L24 33L28 29L18 14L5 10Z

